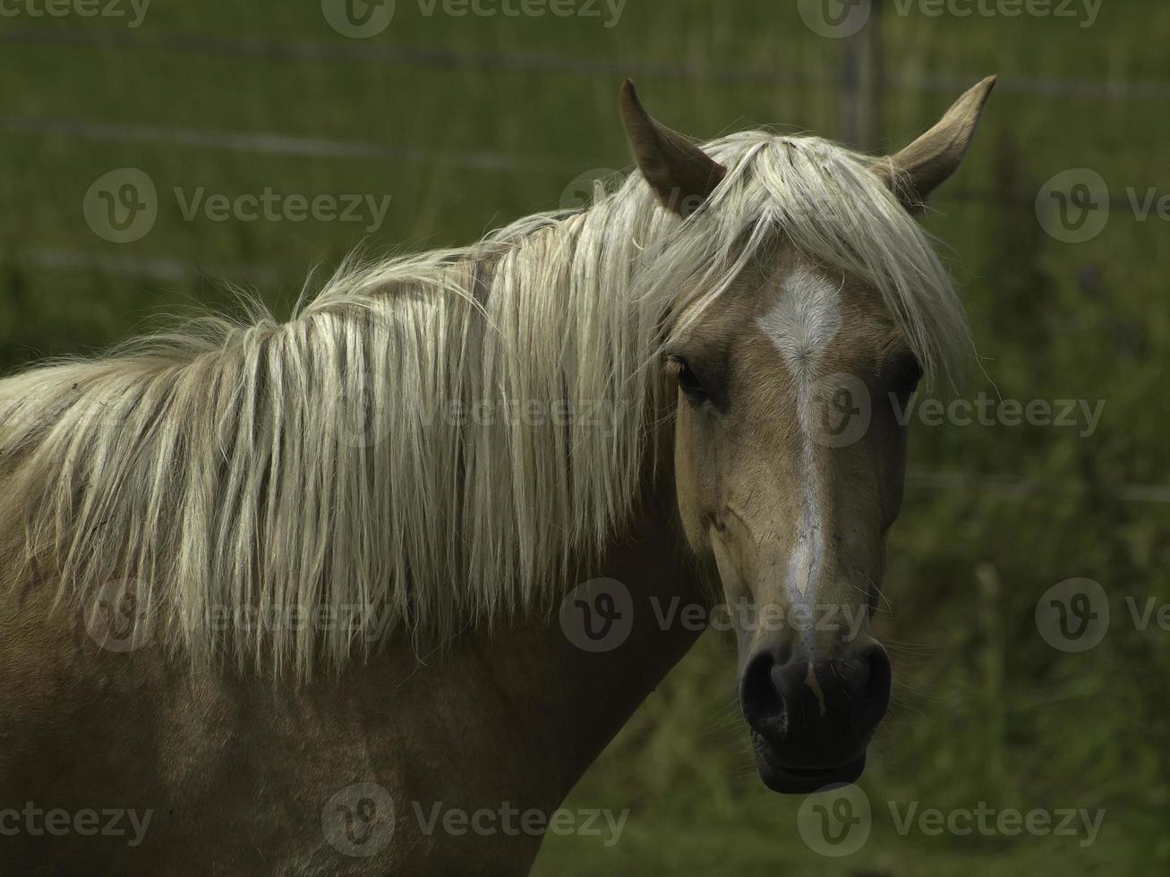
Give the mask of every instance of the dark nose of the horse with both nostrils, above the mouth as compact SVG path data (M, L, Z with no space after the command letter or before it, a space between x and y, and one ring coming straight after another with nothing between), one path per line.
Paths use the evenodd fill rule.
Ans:
M889 706L890 678L889 658L875 641L831 660L780 645L748 661L739 704L748 725L772 746L832 761L868 741Z

